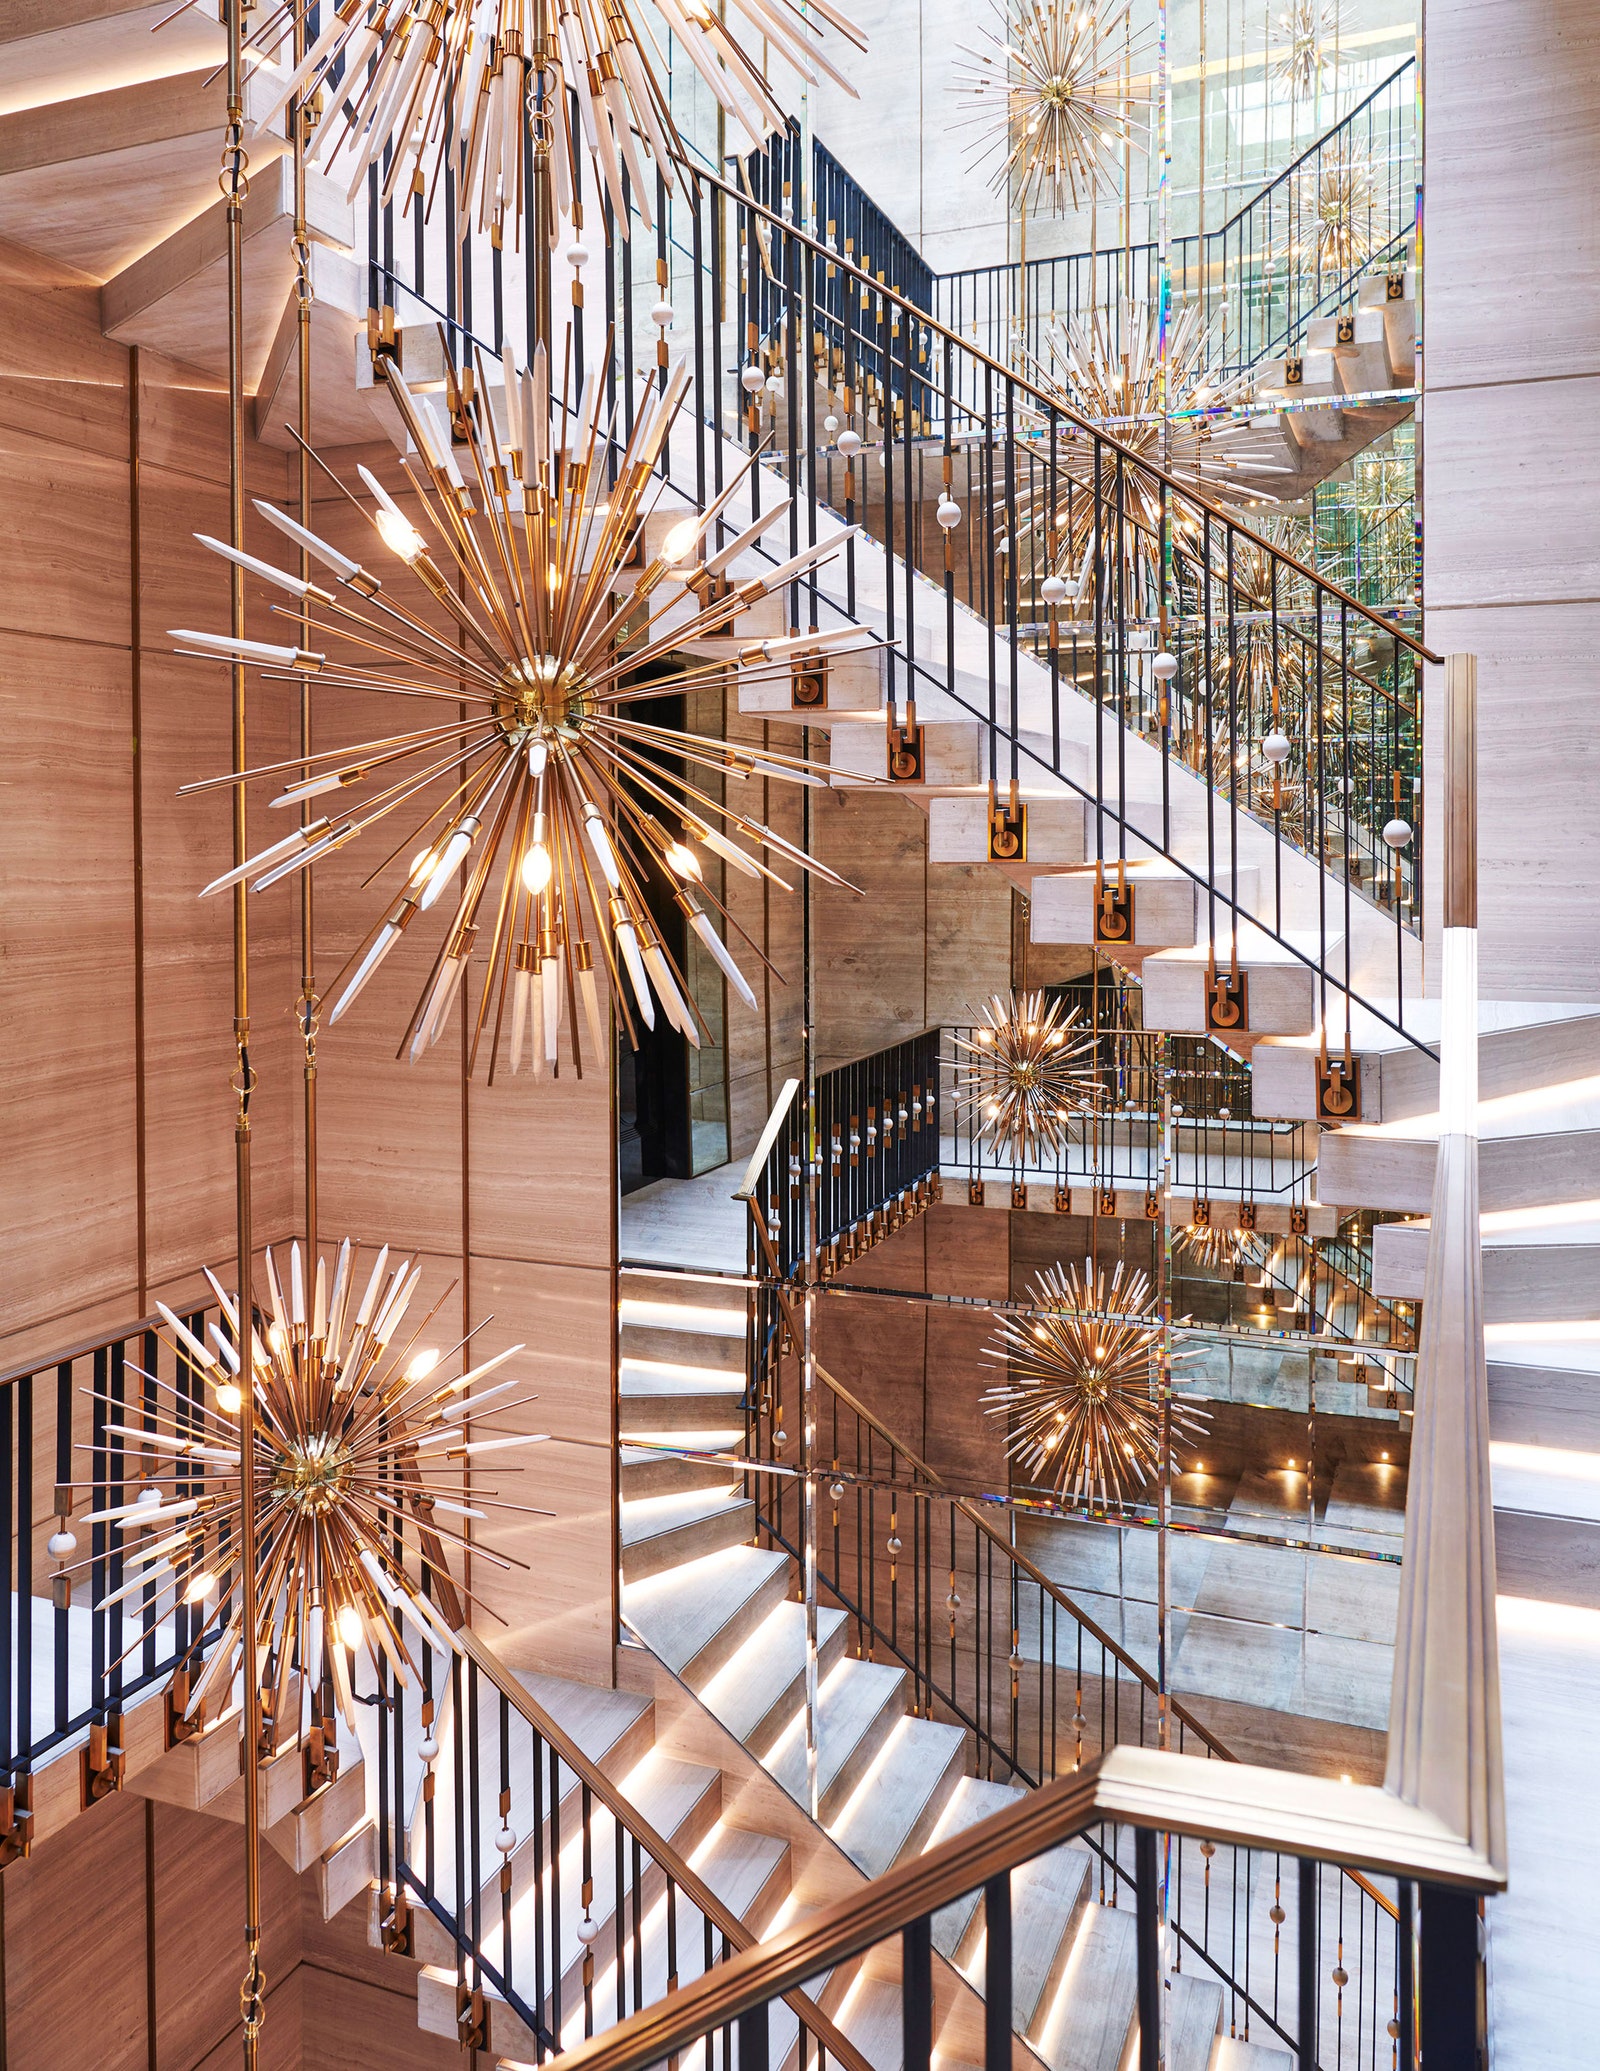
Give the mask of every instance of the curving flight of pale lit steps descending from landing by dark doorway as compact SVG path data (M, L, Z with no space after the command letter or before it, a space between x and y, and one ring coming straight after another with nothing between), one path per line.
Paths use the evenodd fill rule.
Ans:
M727 1450L737 1460L743 1452L743 1419L729 1419L731 1400L743 1396L743 1286L623 1267L619 1352L623 1620L809 1808L807 1634L805 1609L791 1595L793 1564L782 1549L749 1543L753 1506L741 1501L737 1466L679 1456ZM669 1555L673 1533L683 1537ZM847 1613L820 1605L818 1820L863 1876L882 1876L1027 1796L973 1773L962 1727L909 1711L905 1667L847 1649ZM1012 1878L1014 2028L1027 2059L1051 2071L1118 2071L1136 2036L1134 1920L1107 1897L1116 1893L1083 1843ZM981 1988L977 1895L938 1918L934 1945ZM1221 2034L1219 1982L1174 1972L1165 1988L1174 2071L1287 2071L1285 2050ZM892 2071L898 1996L886 1980L853 1992L838 2019L873 2065Z

